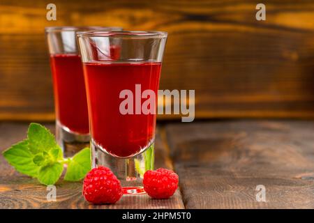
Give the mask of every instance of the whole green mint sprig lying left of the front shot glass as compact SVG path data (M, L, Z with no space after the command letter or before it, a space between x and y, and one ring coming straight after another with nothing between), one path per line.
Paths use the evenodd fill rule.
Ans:
M64 158L54 135L43 125L31 123L27 139L3 152L9 164L21 174L37 178L44 185L54 185L67 164L64 180L77 181L91 169L89 148L84 148L73 157Z

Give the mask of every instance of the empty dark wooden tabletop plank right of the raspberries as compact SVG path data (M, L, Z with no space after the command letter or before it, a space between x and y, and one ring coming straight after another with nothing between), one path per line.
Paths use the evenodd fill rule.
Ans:
M314 208L314 121L167 125L186 208ZM256 186L266 187L266 203Z

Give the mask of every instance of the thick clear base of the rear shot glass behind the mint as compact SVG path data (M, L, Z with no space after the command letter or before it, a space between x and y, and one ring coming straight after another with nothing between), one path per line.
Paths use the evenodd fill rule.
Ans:
M71 132L59 121L56 122L56 140L61 146L64 157L72 157L82 148L89 147L89 134Z

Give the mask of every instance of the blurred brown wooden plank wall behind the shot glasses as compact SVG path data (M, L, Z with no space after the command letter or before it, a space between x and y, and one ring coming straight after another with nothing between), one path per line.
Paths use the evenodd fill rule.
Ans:
M198 118L314 118L314 1L0 2L0 120L53 120L44 27L169 33L160 89L195 89ZM163 116L160 118L172 118Z

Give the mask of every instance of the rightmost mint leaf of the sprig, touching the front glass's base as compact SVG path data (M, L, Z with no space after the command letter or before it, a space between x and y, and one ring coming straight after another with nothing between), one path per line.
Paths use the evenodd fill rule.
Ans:
M84 148L78 152L68 163L66 176L64 180L77 181L86 176L88 171L91 170L91 151L89 148Z

